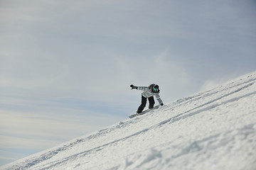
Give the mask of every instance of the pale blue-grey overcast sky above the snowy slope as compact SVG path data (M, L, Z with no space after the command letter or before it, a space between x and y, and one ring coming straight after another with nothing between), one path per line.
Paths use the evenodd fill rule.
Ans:
M0 0L0 164L256 70L255 0ZM156 101L157 103L157 101Z

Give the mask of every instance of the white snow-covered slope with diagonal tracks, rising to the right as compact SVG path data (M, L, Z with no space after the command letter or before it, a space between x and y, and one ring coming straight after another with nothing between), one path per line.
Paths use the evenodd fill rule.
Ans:
M0 168L256 169L256 72Z

